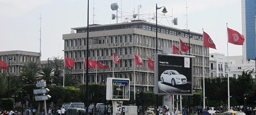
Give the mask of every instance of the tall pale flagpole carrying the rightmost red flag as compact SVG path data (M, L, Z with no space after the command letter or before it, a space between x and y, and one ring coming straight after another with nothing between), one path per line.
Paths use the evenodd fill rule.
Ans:
M227 24L227 23L226 23ZM230 96L229 96L229 39L227 32L227 102L228 102L228 111L230 109Z

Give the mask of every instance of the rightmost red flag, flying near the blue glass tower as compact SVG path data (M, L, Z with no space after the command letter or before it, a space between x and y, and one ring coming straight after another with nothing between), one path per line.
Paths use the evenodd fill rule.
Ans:
M235 45L243 45L245 38L242 34L229 28L227 28L227 33L229 35L229 43Z

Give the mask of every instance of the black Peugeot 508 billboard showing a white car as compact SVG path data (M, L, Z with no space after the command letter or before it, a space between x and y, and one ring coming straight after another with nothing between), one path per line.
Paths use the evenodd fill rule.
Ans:
M192 95L190 55L155 54L155 94Z

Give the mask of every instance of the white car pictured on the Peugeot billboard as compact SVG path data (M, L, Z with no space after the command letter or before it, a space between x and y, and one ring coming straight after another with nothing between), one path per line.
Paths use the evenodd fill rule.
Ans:
M161 82L170 83L172 86L186 84L186 76L175 70L166 70L161 74Z

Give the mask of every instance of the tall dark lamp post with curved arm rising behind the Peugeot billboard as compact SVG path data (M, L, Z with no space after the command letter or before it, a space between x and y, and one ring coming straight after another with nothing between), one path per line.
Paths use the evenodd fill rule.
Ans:
M164 7L164 6L162 6ZM161 9L162 7L157 7L157 4L155 4L155 18L156 18L156 23L155 23L155 39L156 39L156 53L158 51L158 40L157 40L157 9ZM164 7L162 13L167 13L168 11L166 10L166 8ZM158 95L157 96L157 115L159 115L158 113L158 103L159 103L159 100L158 100Z

